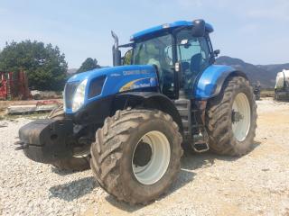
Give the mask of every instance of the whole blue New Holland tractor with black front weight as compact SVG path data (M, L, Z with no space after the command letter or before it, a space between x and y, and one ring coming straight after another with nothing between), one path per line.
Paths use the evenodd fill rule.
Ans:
M246 154L255 97L243 72L214 65L212 31L203 20L168 23L125 45L112 32L114 67L70 77L63 108L24 125L17 149L61 169L90 165L107 193L132 204L169 189L183 149Z

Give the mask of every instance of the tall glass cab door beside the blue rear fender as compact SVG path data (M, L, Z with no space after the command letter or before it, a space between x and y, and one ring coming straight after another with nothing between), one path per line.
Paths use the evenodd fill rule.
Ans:
M181 64L182 73L180 90L187 98L193 96L195 82L201 73L210 66L208 41L206 36L193 37L191 30L182 30L176 35L177 61Z

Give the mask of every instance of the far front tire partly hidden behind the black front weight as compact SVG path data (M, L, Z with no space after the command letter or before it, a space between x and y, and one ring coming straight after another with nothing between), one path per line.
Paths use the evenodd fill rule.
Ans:
M64 119L64 111L63 106L57 107L51 111L51 113L47 116L48 119ZM89 169L89 159L90 156L86 157L70 157L58 160L52 163L53 166L57 167L61 170L71 170L71 171L82 171Z

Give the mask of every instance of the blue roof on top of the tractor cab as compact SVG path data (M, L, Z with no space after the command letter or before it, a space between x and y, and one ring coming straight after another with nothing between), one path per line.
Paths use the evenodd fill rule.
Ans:
M173 22L173 23L165 23L162 25L154 26L153 28L146 29L144 31L136 32L135 34L133 34L131 36L130 40L132 40L132 41L141 40L141 39L153 36L153 35L157 35L157 34L162 33L164 31L172 30L172 29L182 27L182 26L190 27L192 25L193 25L193 23L190 21L177 21L177 22ZM213 27L209 23L206 23L205 28L206 28L206 31L208 31L209 33L214 31Z

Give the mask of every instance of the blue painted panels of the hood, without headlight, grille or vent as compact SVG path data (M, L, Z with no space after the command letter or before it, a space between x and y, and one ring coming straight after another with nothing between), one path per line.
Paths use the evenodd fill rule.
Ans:
M89 95L89 85L92 80L99 76L107 76L104 82L101 94L95 97L88 98ZM157 76L153 66L119 66L119 67L103 67L100 69L93 69L88 72L80 73L70 77L68 83L71 82L81 82L88 79L85 90L85 101L82 106L87 105L93 101L100 98L106 97L108 95L117 94L120 92L121 88L128 83L135 81L131 85L130 90L136 90L145 87L156 87ZM73 113L71 109L66 109L66 113Z

